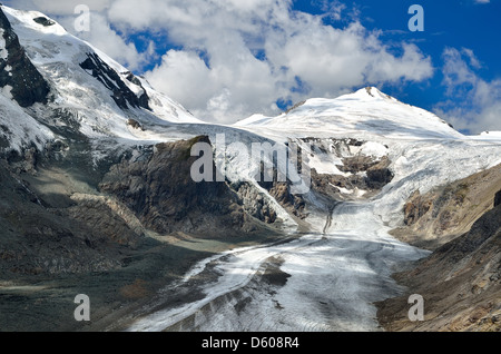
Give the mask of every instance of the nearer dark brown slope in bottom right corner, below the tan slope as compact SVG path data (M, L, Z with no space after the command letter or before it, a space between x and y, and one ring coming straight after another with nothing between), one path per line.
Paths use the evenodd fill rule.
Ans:
M501 331L501 206L461 237L395 278L409 294L379 304L389 331ZM424 298L424 321L410 322L407 298Z

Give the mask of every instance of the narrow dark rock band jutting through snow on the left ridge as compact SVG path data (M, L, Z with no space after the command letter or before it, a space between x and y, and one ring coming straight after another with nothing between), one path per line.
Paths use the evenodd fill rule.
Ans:
M149 107L149 98L146 90L143 88L139 80L134 80L134 75L128 75L128 80L135 85L138 85L143 89L143 94L137 96L130 88L125 85L118 73L112 70L106 62L104 62L98 55L87 53L87 59L80 63L80 67L99 80L108 90L112 92L111 98L115 100L118 107L128 109L129 107L138 108L143 107L151 110Z

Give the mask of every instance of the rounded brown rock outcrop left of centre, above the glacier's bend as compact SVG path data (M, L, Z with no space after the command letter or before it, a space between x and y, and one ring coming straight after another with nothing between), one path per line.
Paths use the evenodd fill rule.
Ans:
M240 230L244 209L226 183L195 183L191 146L208 137L159 144L153 150L114 166L100 189L118 197L145 227L160 234L185 232L223 236ZM215 170L215 168L214 168ZM226 232L223 232L226 230Z

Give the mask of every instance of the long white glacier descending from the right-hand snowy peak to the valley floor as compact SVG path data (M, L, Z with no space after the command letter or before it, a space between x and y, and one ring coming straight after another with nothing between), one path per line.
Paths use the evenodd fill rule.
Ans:
M366 91L357 95L373 99L365 98ZM129 331L380 331L373 303L403 291L391 277L392 273L402 262L429 254L389 234L402 223L405 200L416 189L424 193L501 164L501 144L462 136L434 115L377 95L374 100L384 105L391 100L399 109L409 109L407 119L411 112L421 112L422 121L429 121L440 134L404 128L386 136L367 128L357 135L352 130L328 130L331 126L324 122L327 131L322 130L323 126L308 128L307 125L296 130L278 122L285 115L269 125L263 124L263 117L238 125L238 129L272 141L283 142L289 137L314 140L321 148L308 150L311 167L322 167L331 174L338 170L328 161L338 164L345 154L333 149L333 142L360 138L363 141L351 153L374 158L387 156L394 178L369 200L337 204L332 215L321 209L322 204L316 204L314 195L307 196L307 235L285 244L235 249L202 262L180 285L189 286L191 277L202 275L203 278L204 274L216 272L217 281L199 284L202 299L179 306L165 304L165 309L137 318ZM304 115L303 122L312 118L308 105L298 108ZM323 109L326 105L322 102ZM299 125L299 112L294 115ZM322 117L321 111L316 115ZM332 118L330 115L325 115L326 119ZM353 115L348 117L352 118ZM247 171L243 166L232 166L232 169ZM285 284L266 281L271 267L286 276Z

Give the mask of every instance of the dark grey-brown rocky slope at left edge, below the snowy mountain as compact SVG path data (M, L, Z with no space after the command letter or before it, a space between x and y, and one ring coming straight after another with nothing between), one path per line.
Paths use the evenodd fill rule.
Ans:
M0 167L3 279L119 268L127 249L141 242L141 234L105 203L76 200L70 209L48 208L4 160Z

